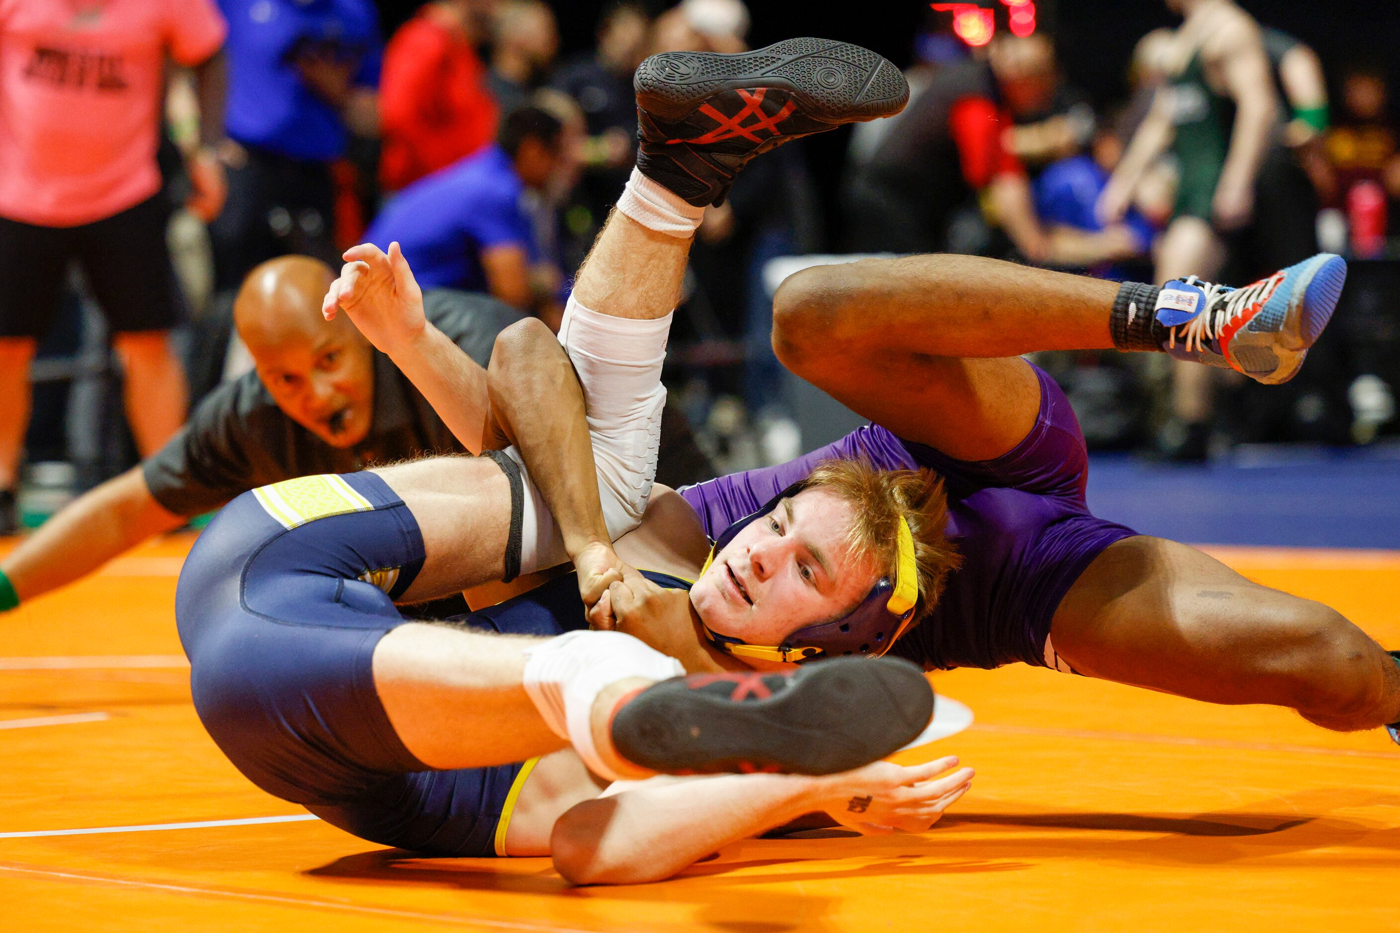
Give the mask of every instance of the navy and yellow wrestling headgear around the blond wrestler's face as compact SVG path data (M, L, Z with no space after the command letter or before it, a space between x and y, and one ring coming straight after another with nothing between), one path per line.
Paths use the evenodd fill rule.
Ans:
M725 548L739 532L750 522L762 518L777 508L777 504L802 490L801 484L790 485L766 502L753 515L745 516L727 527L710 548L710 558L704 562L704 575L714 562L714 555ZM750 645L742 638L721 635L710 631L701 622L706 638L717 649L738 657L759 657L763 660L802 662L818 657L840 657L841 655L869 655L879 657L904 634L914 618L914 606L918 601L918 565L914 561L914 536L909 530L904 516L899 518L897 530L899 560L896 562L895 579L881 578L865 594L861 604L846 615L830 622L806 625L799 628L781 645Z

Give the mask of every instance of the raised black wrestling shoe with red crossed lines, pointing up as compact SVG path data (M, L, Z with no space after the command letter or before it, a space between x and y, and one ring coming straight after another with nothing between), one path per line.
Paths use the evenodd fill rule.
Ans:
M869 49L787 39L741 55L665 52L637 69L637 168L696 207L721 204L759 152L892 116L909 84Z

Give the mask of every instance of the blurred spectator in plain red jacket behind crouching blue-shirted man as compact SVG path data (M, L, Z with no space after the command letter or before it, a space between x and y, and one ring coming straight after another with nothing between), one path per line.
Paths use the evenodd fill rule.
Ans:
M384 50L379 180L396 192L496 138L496 101L476 55L483 0L427 3Z

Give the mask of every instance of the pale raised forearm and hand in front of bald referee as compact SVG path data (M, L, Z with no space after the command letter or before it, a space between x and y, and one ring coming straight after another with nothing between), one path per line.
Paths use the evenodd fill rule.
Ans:
M438 330L423 312L423 291L398 243L384 253L372 243L344 253L340 277L330 284L321 311L350 315L360 333L386 354L423 393L463 448L480 453L487 425L486 371Z

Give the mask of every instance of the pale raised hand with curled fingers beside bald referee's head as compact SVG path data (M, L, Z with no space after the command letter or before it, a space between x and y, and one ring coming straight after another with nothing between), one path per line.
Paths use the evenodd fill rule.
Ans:
M389 243L388 253L374 243L351 246L344 260L340 277L321 302L326 320L343 309L360 333L389 355L423 334L423 290L398 242Z

